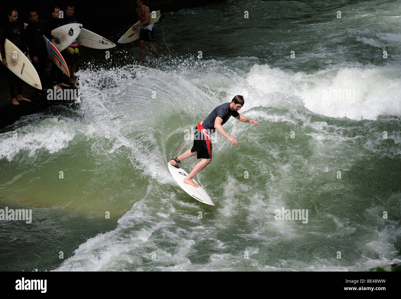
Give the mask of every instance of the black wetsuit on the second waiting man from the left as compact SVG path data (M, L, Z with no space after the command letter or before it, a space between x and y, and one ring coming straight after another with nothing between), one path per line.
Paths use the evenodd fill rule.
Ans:
M45 41L43 40L43 23L32 23L30 22L25 28L26 44L28 45L30 58L32 64L38 72L41 82L44 80L46 63L47 63L47 51ZM38 63L34 62L34 57L38 58ZM40 93L39 89L35 89L36 95Z

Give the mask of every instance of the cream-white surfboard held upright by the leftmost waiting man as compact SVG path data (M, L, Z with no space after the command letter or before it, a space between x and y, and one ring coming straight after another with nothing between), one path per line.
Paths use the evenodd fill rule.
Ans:
M4 42L7 68L22 81L37 89L42 89L41 79L36 69L18 47L6 38Z

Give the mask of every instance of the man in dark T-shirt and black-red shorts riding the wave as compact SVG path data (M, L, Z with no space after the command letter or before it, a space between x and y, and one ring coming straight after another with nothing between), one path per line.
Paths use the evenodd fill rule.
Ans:
M170 160L170 164L179 168L178 163L181 160L184 160L189 157L193 157L196 155L196 158L202 160L198 162L194 169L188 174L186 178L184 178L184 183L190 184L191 186L198 187L195 182L192 180L196 174L201 172L203 168L207 166L212 160L212 141L210 134L215 130L219 132L223 137L226 137L233 143L233 145L237 145L237 140L230 135L227 134L223 129L223 125L228 121L231 115L238 119L239 121L243 121L244 123L251 123L257 126L257 122L255 120L247 119L241 113L238 113L238 110L244 105L244 98L241 95L236 95L231 103L224 103L220 106L217 106L213 111L209 114L209 116L196 125L196 129L194 131L194 145L192 149L188 149L186 152L181 154L180 156Z

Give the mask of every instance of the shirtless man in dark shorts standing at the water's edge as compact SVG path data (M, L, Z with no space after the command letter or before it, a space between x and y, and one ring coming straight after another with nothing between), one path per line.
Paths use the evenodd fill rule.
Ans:
M138 5L138 8L136 9L136 15L138 16L138 20L141 22L138 25L132 26L132 29L136 30L136 28L142 26L141 32L139 34L139 46L141 47L141 54L142 58L146 59L146 54L145 54L145 42L148 42L148 47L156 56L156 58L159 58L159 55L154 48L152 41L153 41L153 24L150 22L150 11L149 7L143 4L143 0L136 0L136 4Z

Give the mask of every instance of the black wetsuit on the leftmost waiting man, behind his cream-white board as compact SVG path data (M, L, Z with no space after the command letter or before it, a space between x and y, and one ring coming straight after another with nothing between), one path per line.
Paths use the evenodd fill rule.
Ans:
M6 25L1 29L1 43L0 52L2 58L6 58L6 53L4 52L4 42L6 38L15 44L25 55L28 55L28 48L26 47L26 40L24 36L24 25L19 23L13 23L8 21ZM11 98L16 98L15 88L17 88L17 94L22 94L22 80L18 78L12 71L8 70L8 88L10 89Z

